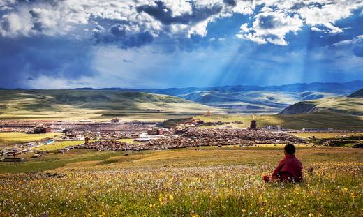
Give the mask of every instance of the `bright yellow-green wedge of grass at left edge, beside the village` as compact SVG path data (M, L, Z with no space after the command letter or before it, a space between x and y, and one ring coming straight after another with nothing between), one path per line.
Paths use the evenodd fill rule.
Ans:
M0 147L9 147L12 144L20 144L27 142L34 142L36 140L43 140L45 138L52 138L58 133L47 134L27 134L27 133L0 133Z

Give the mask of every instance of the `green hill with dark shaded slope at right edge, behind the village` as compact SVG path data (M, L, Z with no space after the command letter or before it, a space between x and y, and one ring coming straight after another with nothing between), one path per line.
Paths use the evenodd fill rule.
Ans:
M363 115L361 98L323 98L290 105L280 114L311 114L314 112L336 112L339 114Z

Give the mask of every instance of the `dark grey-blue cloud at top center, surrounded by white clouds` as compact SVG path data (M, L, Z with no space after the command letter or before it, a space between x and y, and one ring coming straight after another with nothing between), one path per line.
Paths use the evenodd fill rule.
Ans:
M165 6L162 1L155 1L156 6L144 5L136 8L139 13L145 12L156 20L159 20L163 24L193 24L207 20L212 15L216 15L221 12L223 6L220 4L214 4L212 7L196 7L194 3L191 3L191 13L184 15L172 16L172 10Z

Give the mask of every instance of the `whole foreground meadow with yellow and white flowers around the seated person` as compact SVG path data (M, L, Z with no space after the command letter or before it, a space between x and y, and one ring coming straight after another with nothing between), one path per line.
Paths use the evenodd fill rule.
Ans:
M52 154L0 167L61 161L48 173L0 174L0 214L362 216L362 149L298 147L304 182L265 184L282 156L282 146Z

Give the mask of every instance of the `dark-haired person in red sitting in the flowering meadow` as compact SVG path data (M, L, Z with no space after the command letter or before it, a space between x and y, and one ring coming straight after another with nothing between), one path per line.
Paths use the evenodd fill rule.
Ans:
M295 146L293 144L286 144L284 149L285 158L280 160L279 165L272 173L272 177L263 177L264 181L302 181L302 163L295 157Z

